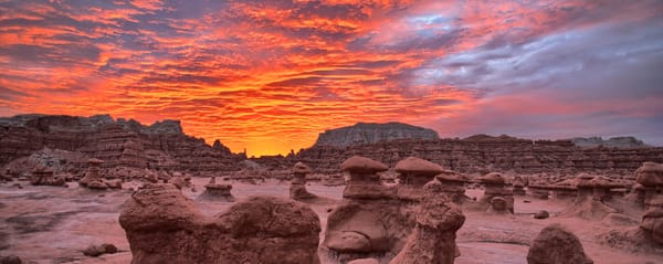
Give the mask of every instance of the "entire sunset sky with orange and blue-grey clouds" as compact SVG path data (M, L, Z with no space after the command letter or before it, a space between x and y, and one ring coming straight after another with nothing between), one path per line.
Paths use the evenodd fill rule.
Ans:
M0 116L110 114L232 151L402 122L663 145L663 1L0 0Z

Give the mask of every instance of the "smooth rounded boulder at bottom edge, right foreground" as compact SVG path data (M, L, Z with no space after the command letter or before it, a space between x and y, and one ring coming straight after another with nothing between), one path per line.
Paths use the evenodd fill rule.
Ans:
M578 236L559 224L541 230L527 253L527 264L592 264Z

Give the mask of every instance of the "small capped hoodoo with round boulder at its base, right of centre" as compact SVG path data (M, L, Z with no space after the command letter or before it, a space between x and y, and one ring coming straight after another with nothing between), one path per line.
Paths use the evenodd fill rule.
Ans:
M506 188L506 180L499 172L491 172L478 179L484 186L484 196L478 200L482 209L514 213L514 193ZM498 198L498 199L494 199Z

